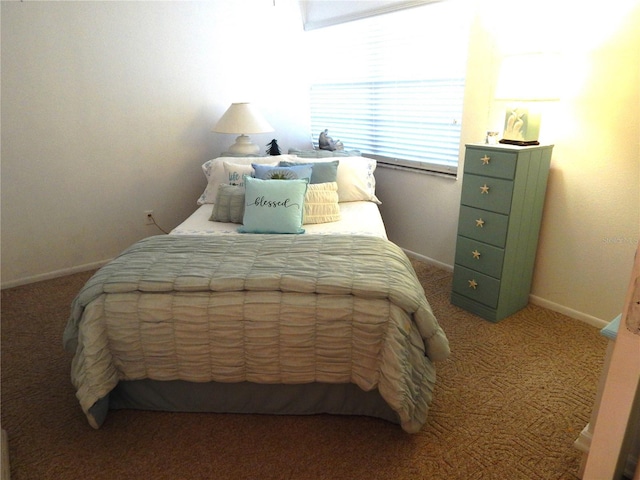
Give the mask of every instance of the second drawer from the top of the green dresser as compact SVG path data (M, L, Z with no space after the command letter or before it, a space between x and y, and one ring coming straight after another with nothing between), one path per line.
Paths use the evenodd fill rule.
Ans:
M465 175L462 183L463 205L509 214L513 182L479 175Z

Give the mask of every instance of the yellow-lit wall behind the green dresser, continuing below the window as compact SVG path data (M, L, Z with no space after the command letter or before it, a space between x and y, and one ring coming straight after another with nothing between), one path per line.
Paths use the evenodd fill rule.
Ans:
M561 54L562 97L542 120L555 148L532 298L598 325L620 313L640 236L640 2L581 5L576 22L566 3L477 2L462 136L502 130L504 105L492 100L502 55ZM461 182L377 173L390 238L452 265Z

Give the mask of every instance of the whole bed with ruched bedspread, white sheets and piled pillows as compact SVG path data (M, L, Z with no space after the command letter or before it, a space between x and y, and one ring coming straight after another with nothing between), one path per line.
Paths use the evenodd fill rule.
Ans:
M73 301L63 342L89 424L126 408L367 415L419 431L449 344L387 239L375 161L202 168L196 211L126 249ZM260 177L283 171L301 177Z

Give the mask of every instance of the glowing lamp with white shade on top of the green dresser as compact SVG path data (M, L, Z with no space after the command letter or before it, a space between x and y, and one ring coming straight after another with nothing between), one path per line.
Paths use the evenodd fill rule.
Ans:
M542 101L558 99L558 56L525 53L502 60L495 98L509 102L500 143L539 145Z

